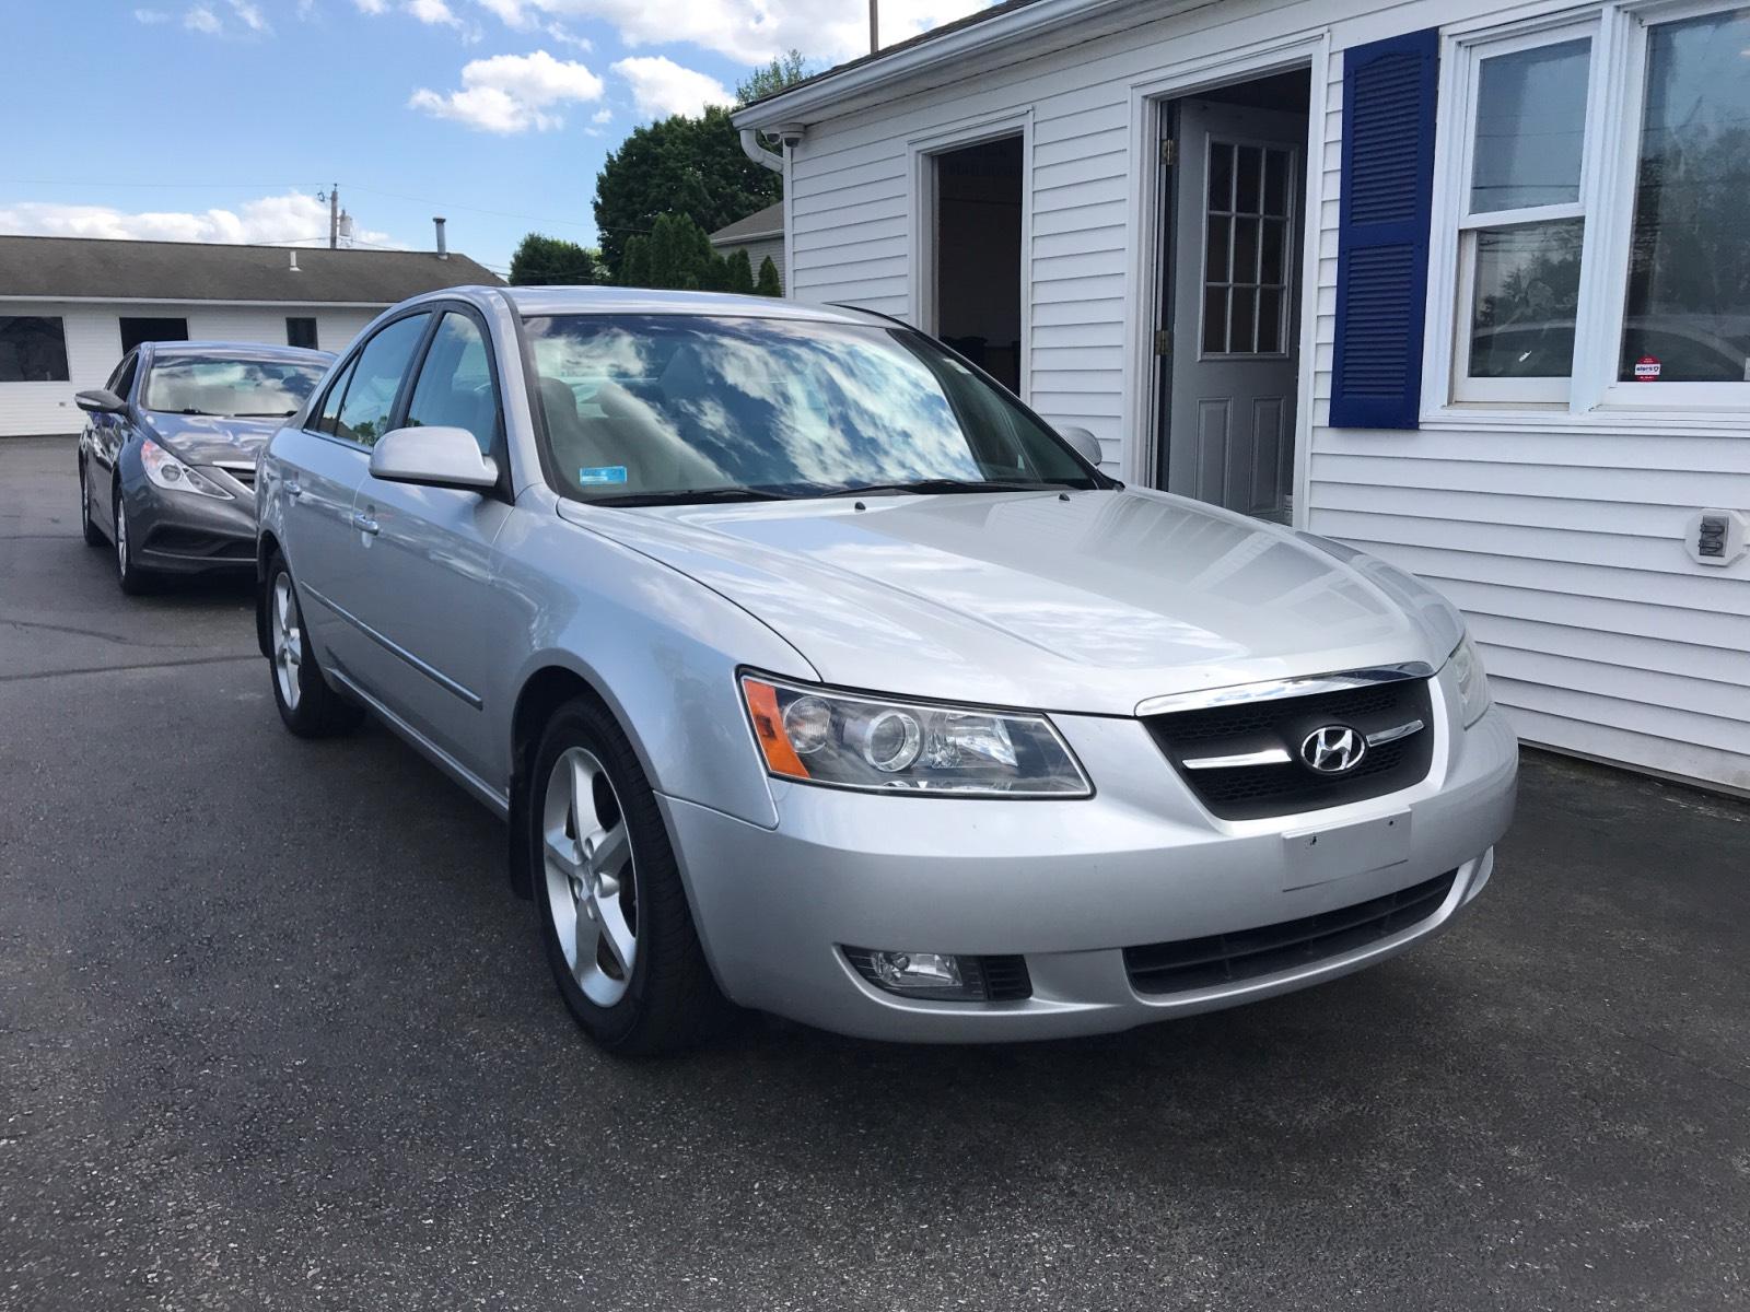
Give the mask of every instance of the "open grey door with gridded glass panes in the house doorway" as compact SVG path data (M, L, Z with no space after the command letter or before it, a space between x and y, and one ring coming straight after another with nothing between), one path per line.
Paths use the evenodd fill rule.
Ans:
M1298 114L1180 101L1167 490L1286 520L1300 376Z

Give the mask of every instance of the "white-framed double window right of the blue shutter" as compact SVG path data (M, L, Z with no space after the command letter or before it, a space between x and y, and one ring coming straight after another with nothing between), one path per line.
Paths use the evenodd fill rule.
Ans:
M1750 9L1633 0L1452 52L1451 399L1745 404Z

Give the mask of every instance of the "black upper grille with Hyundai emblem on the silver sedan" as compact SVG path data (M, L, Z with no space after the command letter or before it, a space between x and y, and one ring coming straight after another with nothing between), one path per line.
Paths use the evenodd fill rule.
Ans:
M1433 715L1426 679L1391 679L1311 696L1265 698L1204 710L1148 715L1144 724L1197 799L1225 820L1293 815L1365 801L1418 784L1433 763ZM1362 763L1321 775L1300 757L1307 735L1335 724L1363 738L1407 724L1421 728L1368 745ZM1194 770L1186 761L1274 750L1286 761Z

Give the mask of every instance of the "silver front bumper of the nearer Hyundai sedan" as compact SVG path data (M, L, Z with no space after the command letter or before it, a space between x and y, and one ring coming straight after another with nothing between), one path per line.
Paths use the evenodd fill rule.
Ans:
M1304 815L1220 820L1199 806L1141 722L1076 715L1054 721L1099 789L1085 801L775 784L775 829L662 801L705 953L744 1006L901 1041L1122 1030L1362 969L1438 932L1477 896L1512 820L1517 742L1498 710L1454 729L1444 684L1433 684L1438 736L1423 782ZM1393 841L1370 847L1388 822ZM1311 833L1326 838L1326 855L1311 855ZM1334 864L1332 852L1344 855ZM1456 876L1437 910L1362 946L1185 992L1143 994L1130 983L1125 948L1320 917L1447 871ZM844 946L1018 953L1032 995L906 999L864 981Z

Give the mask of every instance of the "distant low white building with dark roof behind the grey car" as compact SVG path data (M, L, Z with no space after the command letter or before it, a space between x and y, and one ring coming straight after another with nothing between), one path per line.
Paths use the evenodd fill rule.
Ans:
M74 394L142 341L338 352L396 301L495 282L448 252L0 236L0 437L79 432Z

